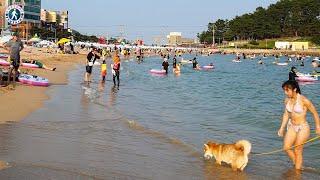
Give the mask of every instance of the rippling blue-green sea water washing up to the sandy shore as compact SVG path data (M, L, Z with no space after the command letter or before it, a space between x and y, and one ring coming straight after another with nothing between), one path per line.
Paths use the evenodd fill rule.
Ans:
M185 58L191 58L186 56ZM21 123L1 125L0 159L11 179L318 179L319 142L305 148L302 174L284 153L250 156L245 172L232 172L202 158L207 140L247 139L254 153L281 148L277 137L283 112L281 83L290 66L257 60L232 63L232 55L198 57L213 71L184 65L180 76L152 76L160 58L122 63L121 85L82 84L83 67L70 73L68 86L51 88L45 106ZM310 72L309 64L297 66ZM108 72L109 73L109 72ZM302 92L320 108L319 84ZM309 123L314 122L309 117ZM313 133L314 135L314 133ZM40 175L39 175L40 174ZM1 178L1 179L2 179Z

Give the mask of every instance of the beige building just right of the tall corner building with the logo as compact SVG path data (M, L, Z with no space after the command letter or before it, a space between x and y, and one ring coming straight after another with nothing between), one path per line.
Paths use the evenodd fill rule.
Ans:
M41 9L41 22L44 26L68 28L68 11L49 11Z

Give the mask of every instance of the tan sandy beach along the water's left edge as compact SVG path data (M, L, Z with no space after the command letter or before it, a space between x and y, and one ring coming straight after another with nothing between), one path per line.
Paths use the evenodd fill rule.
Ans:
M26 47L21 53L22 59L36 59L49 67L56 67L57 70L20 68L20 71L49 79L50 86L65 85L68 72L85 57L84 53L77 55L47 53L46 49ZM17 83L15 90L0 88L0 101L3 103L0 106L0 123L20 121L40 108L49 98L46 91L50 86L46 88Z

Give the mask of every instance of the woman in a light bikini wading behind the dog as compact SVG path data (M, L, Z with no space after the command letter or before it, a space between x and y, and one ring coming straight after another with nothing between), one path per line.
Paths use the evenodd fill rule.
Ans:
M287 98L285 99L285 111L278 135L283 137L285 127L287 127L283 140L283 149L286 150L295 168L301 170L303 163L303 145L301 144L306 142L310 136L310 126L306 119L307 111L310 111L313 115L317 135L320 135L319 115L312 102L301 95L296 81L289 80L283 83L282 88ZM296 145L301 146L297 146L292 150L291 147Z

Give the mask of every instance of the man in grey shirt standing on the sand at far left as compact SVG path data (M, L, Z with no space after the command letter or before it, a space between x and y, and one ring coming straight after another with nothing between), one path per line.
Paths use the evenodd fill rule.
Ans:
M23 42L19 38L18 32L13 33L12 39L4 45L4 48L9 52L10 54L10 69L9 69L9 77L11 77L13 73L13 77L16 77L19 66L21 64L21 59L20 59L20 52L23 50ZM10 79L8 78L7 84L10 84ZM12 89L15 88L15 81L16 78L13 78L13 87Z

